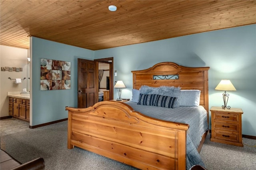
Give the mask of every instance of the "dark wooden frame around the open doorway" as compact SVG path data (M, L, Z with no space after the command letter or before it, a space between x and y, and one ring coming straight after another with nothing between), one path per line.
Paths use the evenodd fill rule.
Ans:
M106 64L109 64L109 99L110 100L113 100L114 98L114 78L113 78L113 74L114 74L114 57L109 57L109 58L104 58L104 59L95 59L94 61L96 61L96 74L97 74L97 78L96 78L96 81L97 81L97 84L99 84L99 78L98 78L98 75L99 75L99 63L106 63ZM97 85L97 91L99 91L99 86Z

